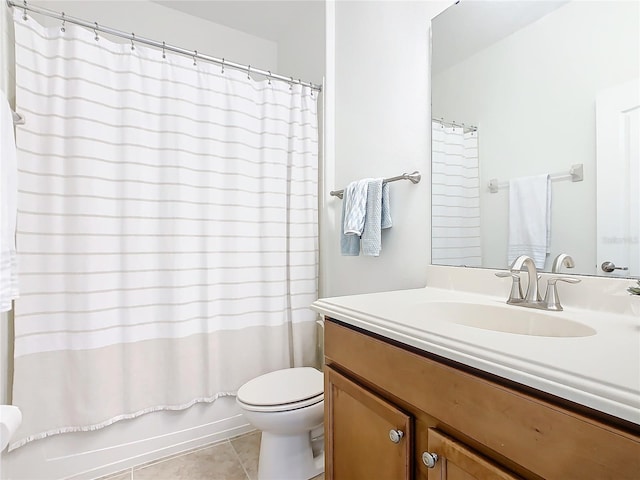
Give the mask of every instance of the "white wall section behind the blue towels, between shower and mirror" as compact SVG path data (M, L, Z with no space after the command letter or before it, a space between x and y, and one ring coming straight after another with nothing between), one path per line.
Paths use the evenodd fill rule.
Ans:
M431 258L429 22L452 2L338 1L328 19L327 142L322 202L324 296L415 288ZM329 130L334 126L332 132ZM335 137L333 137L335 135ZM363 177L419 170L391 184L393 227L380 257L340 255L342 201Z

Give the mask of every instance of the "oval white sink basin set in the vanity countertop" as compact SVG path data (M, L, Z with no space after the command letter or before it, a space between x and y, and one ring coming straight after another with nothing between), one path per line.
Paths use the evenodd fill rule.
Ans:
M431 319L515 335L588 337L597 333L588 325L563 318L562 312L551 314L511 305L429 302L420 305L420 313Z

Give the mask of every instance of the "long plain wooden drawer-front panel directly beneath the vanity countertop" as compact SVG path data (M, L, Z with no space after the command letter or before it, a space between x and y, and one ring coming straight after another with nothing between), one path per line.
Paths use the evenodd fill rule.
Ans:
M640 437L330 321L326 363L351 372L444 431L558 480L640 479Z

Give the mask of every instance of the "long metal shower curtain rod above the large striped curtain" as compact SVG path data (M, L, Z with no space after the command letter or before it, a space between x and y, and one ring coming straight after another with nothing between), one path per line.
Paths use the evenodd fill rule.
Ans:
M309 87L311 88L311 90L316 90L318 92L322 91L322 87L320 85L316 85L311 82L303 82L300 79L294 80L293 77L285 77L284 75L271 73L268 70L253 68L251 67L251 65L242 65L240 63L230 62L228 60L225 60L224 58L216 58L210 55L204 55L202 53L198 53L197 50L187 50L185 48L176 47L174 45L168 45L165 42L158 42L156 40L151 40L149 38L138 37L135 35L135 33L127 33L121 30L116 30L114 28L103 27L102 25L99 25L98 22L88 22L86 20L82 20L81 18L70 17L68 15L65 15L64 12L58 13L46 8L27 5L26 1L19 2L16 0L7 0L7 5L9 5L10 7L16 7L24 10L23 18L25 19L27 16L27 11L30 11L30 12L37 13L39 15L57 18L58 20L62 20L63 24L64 22L75 23L76 25L81 25L83 27L90 28L95 32L102 32L102 33L107 33L109 35L113 35L115 37L126 38L127 40L131 40L132 44L134 42L144 43L146 45L151 45L152 47L162 49L163 51L175 52L181 55L185 55L187 57L192 57L194 59L197 58L199 60L215 63L218 65L221 65L223 69L224 67L229 67L236 70L241 70L243 72L247 72L247 74L257 73L258 75L262 75L269 79L280 80L282 82L287 82L289 84L302 85L303 87Z

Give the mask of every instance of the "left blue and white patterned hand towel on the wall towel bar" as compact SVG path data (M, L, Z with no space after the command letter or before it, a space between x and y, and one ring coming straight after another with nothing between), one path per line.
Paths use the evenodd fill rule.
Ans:
M342 221L340 226L340 253L360 255L360 235L366 215L368 179L351 182L342 194Z

